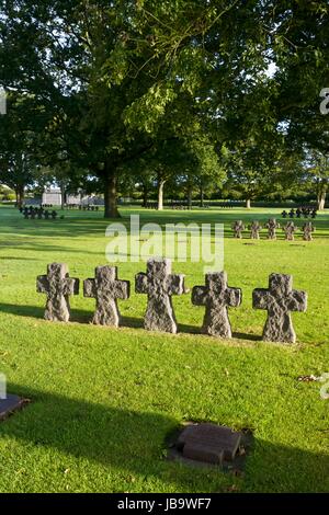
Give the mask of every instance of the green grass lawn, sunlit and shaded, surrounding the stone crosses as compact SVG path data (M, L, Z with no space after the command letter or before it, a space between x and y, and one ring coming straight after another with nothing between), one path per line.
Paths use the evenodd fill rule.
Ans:
M173 298L180 333L146 332L146 296L132 287L121 302L125 327L89 323L94 301L71 299L68 324L43 320L36 276L52 262L92 277L106 264L102 213L66 211L64 220L24 220L0 207L0 371L9 391L32 400L0 424L1 492L328 492L329 400L300 375L329 373L329 214L316 220L315 241L231 238L235 219L265 220L275 209L162 214L122 210L123 221L224 222L225 270L242 288L230 309L234 339L198 334L204 309ZM302 225L300 221L298 221ZM281 231L279 231L281 232ZM263 236L264 238L264 236ZM203 265L174 263L186 283L203 284ZM134 285L145 263L120 264ZM293 274L308 291L306 313L293 313L297 343L262 343L264 311L252 289L272 272ZM242 476L191 468L166 458L166 438L184 421L212 421L253 431Z

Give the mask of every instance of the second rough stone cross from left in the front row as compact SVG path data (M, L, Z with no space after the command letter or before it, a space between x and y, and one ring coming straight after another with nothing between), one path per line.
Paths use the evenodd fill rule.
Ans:
M83 296L97 299L97 310L92 323L118 327L121 316L117 300L126 300L131 295L131 283L117 279L116 266L98 266L95 278L83 282Z

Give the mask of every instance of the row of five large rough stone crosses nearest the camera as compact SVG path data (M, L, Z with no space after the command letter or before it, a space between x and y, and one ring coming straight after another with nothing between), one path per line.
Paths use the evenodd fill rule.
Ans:
M171 273L171 261L167 259L149 260L146 273L136 275L136 293L145 294L148 298L145 329L177 333L178 325L171 299L173 295L189 291L184 279L184 275ZM79 279L69 277L66 264L49 264L47 275L37 277L37 291L47 296L46 320L69 321L69 297L79 294ZM99 266L95 268L95 277L83 282L83 296L95 299L93 323L118 327L122 319L117 299L129 298L131 284L128 281L118 279L116 266ZM231 337L228 308L237 308L241 301L241 289L227 285L225 272L206 274L205 285L194 286L192 289L192 304L205 308L202 332L212 336ZM268 289L253 290L252 306L254 309L268 311L262 335L264 341L296 341L291 311L306 311L307 294L293 289L291 275L271 274Z

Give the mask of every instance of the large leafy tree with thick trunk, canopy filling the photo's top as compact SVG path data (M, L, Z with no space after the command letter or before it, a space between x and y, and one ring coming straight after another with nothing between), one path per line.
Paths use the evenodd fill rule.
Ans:
M197 124L249 175L280 163L269 139L327 152L327 62L325 0L0 0L0 83L37 105L43 164L102 183L106 217L129 163Z

